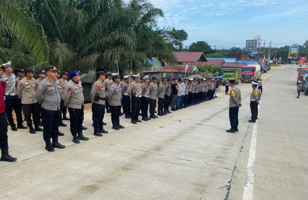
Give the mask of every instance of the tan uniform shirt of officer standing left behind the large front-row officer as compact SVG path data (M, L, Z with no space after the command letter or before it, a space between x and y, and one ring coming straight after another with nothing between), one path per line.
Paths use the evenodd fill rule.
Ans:
M26 77L19 81L17 86L17 95L21 99L22 104L35 104L37 100L34 98L36 90L35 79L28 80Z

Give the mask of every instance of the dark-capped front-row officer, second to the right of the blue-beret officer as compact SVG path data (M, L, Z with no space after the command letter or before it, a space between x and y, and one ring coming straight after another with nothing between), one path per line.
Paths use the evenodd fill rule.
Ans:
M108 102L109 102L109 110L111 112L111 122L112 129L120 130L124 129L124 126L120 124L120 114L121 114L121 78L119 75L112 76L113 84L109 87L108 92Z

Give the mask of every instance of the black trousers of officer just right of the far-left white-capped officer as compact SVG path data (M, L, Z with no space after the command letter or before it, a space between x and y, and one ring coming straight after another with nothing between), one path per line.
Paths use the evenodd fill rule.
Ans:
M22 112L26 117L26 122L29 129L33 129L31 114L34 126L39 126L39 103L36 102L35 104L22 104Z

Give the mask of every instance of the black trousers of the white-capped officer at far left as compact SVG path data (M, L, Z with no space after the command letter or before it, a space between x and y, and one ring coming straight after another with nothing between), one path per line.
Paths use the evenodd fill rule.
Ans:
M13 114L12 114L13 109L16 114L17 126L20 126L22 125L21 99L19 99L17 95L15 96L6 95L5 96L5 113L6 113L7 120L9 121L11 127L16 126L13 120Z

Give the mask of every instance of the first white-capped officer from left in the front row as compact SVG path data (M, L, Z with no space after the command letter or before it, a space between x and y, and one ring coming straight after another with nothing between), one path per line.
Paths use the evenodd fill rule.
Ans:
M139 116L139 110L141 105L141 84L139 83L140 74L132 75L134 77L134 81L129 84L129 88L127 90L127 93L129 95L132 95L132 124L137 124L137 122L141 122L141 120L138 119Z

